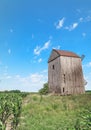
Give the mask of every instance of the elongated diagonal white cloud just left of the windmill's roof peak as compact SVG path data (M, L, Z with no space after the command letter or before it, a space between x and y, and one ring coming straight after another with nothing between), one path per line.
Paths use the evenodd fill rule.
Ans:
M34 54L39 55L43 50L48 49L49 45L50 45L50 40L44 43L43 47L36 46L36 48L34 49Z

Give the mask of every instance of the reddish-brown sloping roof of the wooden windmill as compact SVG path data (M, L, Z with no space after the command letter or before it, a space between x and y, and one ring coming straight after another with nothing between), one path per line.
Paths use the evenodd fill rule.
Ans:
M68 56L68 57L76 57L76 58L80 58L80 56L78 56L76 53L74 52L70 52L70 51L64 51L64 50L56 50L53 49L54 51L56 51L60 56Z

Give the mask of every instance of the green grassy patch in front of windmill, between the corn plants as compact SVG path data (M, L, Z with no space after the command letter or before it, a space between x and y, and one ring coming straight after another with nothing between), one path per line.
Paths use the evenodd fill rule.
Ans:
M81 113L90 107L90 92L78 96L29 94L23 101L17 130L83 130L76 127Z

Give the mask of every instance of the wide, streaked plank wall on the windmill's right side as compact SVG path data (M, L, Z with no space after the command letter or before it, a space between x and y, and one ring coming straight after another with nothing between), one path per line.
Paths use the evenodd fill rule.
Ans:
M80 58L60 57L61 93L79 94L84 93L84 80ZM64 92L63 92L64 89Z

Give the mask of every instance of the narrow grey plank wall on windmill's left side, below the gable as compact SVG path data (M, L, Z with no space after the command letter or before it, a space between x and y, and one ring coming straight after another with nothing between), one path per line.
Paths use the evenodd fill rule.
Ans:
M60 57L48 64L49 91L60 93Z

